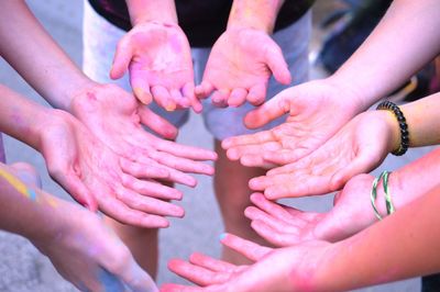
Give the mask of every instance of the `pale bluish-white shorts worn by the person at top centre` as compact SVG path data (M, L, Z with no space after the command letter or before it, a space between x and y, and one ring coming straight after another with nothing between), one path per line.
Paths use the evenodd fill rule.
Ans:
M131 92L128 75L119 80L112 80L109 77L117 44L125 34L125 31L120 30L99 15L87 0L85 0L84 11L82 69L85 74L95 81L116 83ZM284 57L289 66L293 76L290 86L305 82L308 79L308 44L310 32L311 13L309 11L297 22L284 30L277 31L273 35L275 42L283 49ZM201 81L209 53L210 48L191 48L196 85ZM268 83L266 100L273 98L285 88L286 86L279 85L272 77ZM167 112L155 103L148 106L177 127L184 125L188 120L188 110ZM245 103L240 108L220 109L212 105L211 101L207 99L204 101L202 112L205 125L220 141L230 136L254 133L255 130L249 130L243 124L244 115L253 108L253 105ZM280 117L261 127L258 131L272 128L284 121L285 117Z

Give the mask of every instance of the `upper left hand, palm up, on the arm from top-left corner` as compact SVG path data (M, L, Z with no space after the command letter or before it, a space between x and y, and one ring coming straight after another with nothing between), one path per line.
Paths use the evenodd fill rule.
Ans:
M173 125L117 86L96 85L81 91L73 99L72 111L111 150L127 158L122 168L138 178L195 187L196 179L184 172L213 173L211 166L196 160L215 160L215 153L147 133L143 124L168 138L177 134Z

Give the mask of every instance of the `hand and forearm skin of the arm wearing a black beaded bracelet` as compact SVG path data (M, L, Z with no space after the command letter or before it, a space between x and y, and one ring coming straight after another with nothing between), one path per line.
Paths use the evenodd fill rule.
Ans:
M439 105L440 94L437 93L402 106L410 147L440 143L440 122L435 110ZM270 200L332 192L353 176L380 166L399 145L400 130L392 112L362 113L312 154L252 179L250 187L264 191Z

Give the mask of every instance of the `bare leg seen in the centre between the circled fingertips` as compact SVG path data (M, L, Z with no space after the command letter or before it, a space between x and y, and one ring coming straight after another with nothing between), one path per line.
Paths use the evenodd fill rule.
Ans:
M244 167L238 161L229 160L220 144L219 141L215 141L215 148L219 158L216 162L213 183L226 232L267 245L251 228L251 222L244 216L244 209L251 205L249 196L252 191L249 189L248 182L251 178L263 176L265 170ZM229 248L223 248L222 259L237 265L250 262Z

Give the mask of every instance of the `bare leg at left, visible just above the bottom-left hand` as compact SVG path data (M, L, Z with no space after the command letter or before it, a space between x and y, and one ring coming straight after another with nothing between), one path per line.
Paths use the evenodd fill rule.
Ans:
M109 217L106 217L106 222L130 248L138 263L155 279L157 276L158 231L123 225Z

